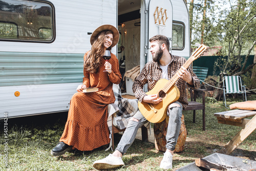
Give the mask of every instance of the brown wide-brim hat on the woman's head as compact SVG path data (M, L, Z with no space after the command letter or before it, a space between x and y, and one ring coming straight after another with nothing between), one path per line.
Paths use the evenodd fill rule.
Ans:
M111 48L113 48L118 40L119 40L119 31L117 30L117 28L115 28L112 25L101 25L100 27L98 27L97 29L94 30L93 34L91 35L91 45L93 45L93 40L95 39L95 37L103 30L110 30L113 32L113 42L112 45L110 46Z

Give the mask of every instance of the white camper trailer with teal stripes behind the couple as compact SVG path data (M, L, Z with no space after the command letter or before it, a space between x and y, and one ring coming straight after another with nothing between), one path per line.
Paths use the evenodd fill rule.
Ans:
M68 111L90 36L103 24L120 31L112 53L122 75L152 60L148 39L156 34L169 38L172 54L190 56L184 1L1 0L0 119ZM126 94L132 83L127 77L122 84Z

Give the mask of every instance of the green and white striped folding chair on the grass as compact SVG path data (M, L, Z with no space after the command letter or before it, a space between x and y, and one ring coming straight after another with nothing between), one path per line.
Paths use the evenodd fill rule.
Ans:
M242 79L240 76L225 76L223 78L223 103L226 108L226 94L243 94L243 100L246 99L246 86L242 86Z

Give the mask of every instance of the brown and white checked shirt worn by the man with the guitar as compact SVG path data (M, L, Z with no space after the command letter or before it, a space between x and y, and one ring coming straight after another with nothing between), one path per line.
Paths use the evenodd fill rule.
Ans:
M176 74L176 72L183 66L186 62L184 57L172 55L172 60L168 66L168 78L169 80ZM180 91L180 98L178 101L182 104L183 109L186 108L188 101L187 101L187 94L186 94L186 84L190 88L198 89L200 87L200 80L197 78L196 74L191 70L190 67L187 68L188 72L191 74L193 78L194 85L190 86L186 81L179 78L175 84ZM136 78L133 84L133 92L136 98L139 99L141 102L143 97L146 96L145 92L143 92L143 86L147 83L147 91L152 90L157 81L162 79L162 69L158 62L151 61L146 63L138 77Z

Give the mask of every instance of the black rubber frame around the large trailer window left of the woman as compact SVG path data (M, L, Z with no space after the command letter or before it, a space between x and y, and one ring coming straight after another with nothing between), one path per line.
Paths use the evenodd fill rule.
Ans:
M52 33L53 33L53 38L50 41L47 40L22 40L22 39L8 39L8 38L2 38L0 37L0 41L16 41L16 42L36 42L36 43L44 43L44 44L51 44L52 42L55 41L56 39L56 19L55 19L55 7L53 5L52 2L47 1L47 0L26 0L26 1L31 1L31 2L39 2L39 3L47 3L48 5L50 5L52 7L52 20L53 20L53 27L52 27ZM1 21L1 23L10 23L10 24L14 24L17 26L16 23L13 22L4 22ZM50 28L51 29L51 28ZM17 30L17 36L18 36L18 30ZM18 37L17 37L18 38Z

